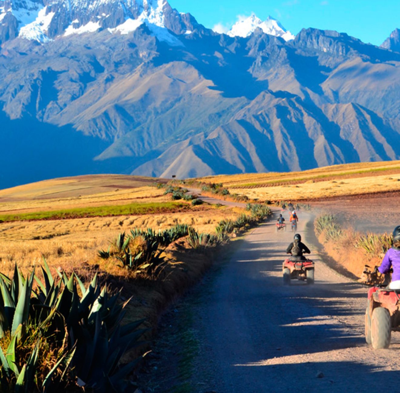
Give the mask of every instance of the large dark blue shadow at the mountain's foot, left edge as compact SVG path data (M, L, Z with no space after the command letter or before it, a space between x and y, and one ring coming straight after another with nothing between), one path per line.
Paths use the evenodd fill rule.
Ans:
M82 174L122 173L127 160L93 158L109 144L71 126L58 127L25 117L10 120L0 112L0 189L39 180Z

